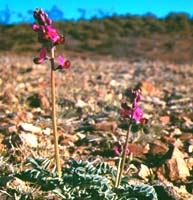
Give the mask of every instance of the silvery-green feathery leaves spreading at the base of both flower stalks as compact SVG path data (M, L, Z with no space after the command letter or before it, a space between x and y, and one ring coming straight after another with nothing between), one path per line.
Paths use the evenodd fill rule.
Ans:
M49 171L49 159L28 158L32 168L15 176L40 186L43 191L52 191L63 200L112 200L116 195L119 200L157 200L152 186L128 184L128 177L123 177L119 188L114 187L116 169L106 163L93 165L89 162L71 161L62 169L58 177L55 169Z

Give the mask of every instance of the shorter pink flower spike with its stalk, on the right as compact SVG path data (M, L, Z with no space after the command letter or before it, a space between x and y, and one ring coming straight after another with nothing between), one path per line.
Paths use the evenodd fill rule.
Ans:
M128 142L131 133L131 127L133 123L146 123L146 119L143 117L143 111L139 106L139 102L142 99L140 89L130 89L127 92L127 99L125 99L121 104L121 117L127 121L128 130L126 134L126 139L124 145L121 145L121 152L117 151L115 148L115 153L120 156L117 176L115 181L115 187L119 187L121 182L121 177L123 174L126 156L130 153L128 149Z

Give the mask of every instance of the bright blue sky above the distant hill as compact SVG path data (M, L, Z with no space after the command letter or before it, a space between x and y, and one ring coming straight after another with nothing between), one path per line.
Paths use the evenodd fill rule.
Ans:
M77 20L81 17L103 15L144 15L153 13L164 17L170 12L193 15L193 0L1 0L0 22L17 23L32 21L32 11L43 8L57 17ZM59 11L59 12L56 12ZM11 15L10 15L11 14Z

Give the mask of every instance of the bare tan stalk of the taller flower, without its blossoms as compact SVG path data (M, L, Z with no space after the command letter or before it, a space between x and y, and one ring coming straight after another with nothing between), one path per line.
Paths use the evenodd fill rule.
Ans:
M51 48L51 96L52 96L52 127L54 134L54 151L55 151L55 162L58 175L61 176L61 164L58 147L58 133L56 124L56 96L55 96L55 67L54 67L54 47Z

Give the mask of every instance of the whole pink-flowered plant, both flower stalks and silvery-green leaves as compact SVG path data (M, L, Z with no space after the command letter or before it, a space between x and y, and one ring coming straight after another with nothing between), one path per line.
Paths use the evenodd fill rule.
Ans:
M31 168L15 176L38 186L42 191L50 191L63 200L157 200L157 194L152 186L130 185L129 177L124 173L126 159L129 160L128 142L132 126L146 123L139 106L140 89L129 90L121 104L121 118L126 121L128 128L124 144L120 145L121 148L115 148L115 153L119 155L118 166L112 167L103 162L96 164L71 160L61 167L55 111L55 72L69 68L70 62L58 56L59 64L55 63L56 46L63 44L65 39L52 26L52 20L47 13L42 9L36 9L34 18L37 23L32 28L38 33L38 40L42 44L39 56L34 59L34 62L40 64L44 60L49 60L51 63L52 125L56 168L51 168L50 160L47 158L28 158Z

